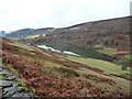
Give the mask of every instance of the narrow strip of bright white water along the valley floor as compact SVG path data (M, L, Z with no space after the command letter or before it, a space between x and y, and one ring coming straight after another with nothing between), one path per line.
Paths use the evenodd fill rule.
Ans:
M63 51L63 52L61 52L61 51L58 51L58 50L55 50L55 48L53 48L53 47L48 47L48 46L46 46L46 45L37 45L37 47L41 47L41 48L44 48L44 50L51 50L51 51L53 51L53 52L59 52L59 53L65 53L65 54L69 54L69 55L80 56L80 55L78 55L78 54L76 54L76 53L68 52L68 51Z

